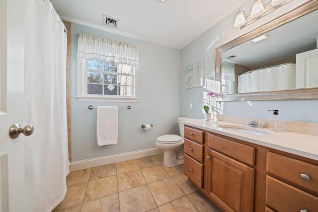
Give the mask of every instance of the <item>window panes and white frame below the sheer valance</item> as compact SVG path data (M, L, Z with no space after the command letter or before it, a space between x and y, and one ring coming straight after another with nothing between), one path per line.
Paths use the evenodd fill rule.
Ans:
M79 60L79 101L137 102L138 68L127 64ZM80 83L82 81L82 83Z

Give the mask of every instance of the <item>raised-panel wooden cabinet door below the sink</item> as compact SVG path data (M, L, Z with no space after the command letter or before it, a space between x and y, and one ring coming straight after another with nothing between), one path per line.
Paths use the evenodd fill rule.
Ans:
M228 212L252 212L254 169L216 151L209 153L210 197Z

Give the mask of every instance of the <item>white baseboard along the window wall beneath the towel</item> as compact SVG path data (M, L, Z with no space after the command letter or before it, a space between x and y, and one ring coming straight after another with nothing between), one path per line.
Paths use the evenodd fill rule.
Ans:
M137 159L141 157L161 154L161 153L163 153L163 151L158 148L150 148L150 149L144 149L139 151L131 151L131 152L126 152L121 154L114 154L114 155L109 155L104 157L96 157L96 158L91 158L87 160L79 160L79 161L71 162L70 171L76 171L80 169L85 169L85 168L90 168L90 167L100 166L100 165L105 165L110 163L117 163L120 161L132 160L132 159Z

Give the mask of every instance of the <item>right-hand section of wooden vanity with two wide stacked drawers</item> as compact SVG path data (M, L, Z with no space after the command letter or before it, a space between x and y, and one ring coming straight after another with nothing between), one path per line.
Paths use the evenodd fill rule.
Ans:
M266 171L268 207L278 212L318 211L317 165L267 152Z

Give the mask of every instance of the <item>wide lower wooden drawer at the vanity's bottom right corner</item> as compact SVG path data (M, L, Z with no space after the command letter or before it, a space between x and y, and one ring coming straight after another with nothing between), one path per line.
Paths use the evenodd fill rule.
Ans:
M277 212L314 212L318 197L267 175L266 204Z

